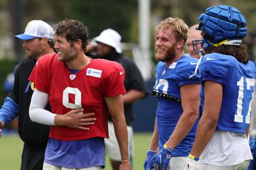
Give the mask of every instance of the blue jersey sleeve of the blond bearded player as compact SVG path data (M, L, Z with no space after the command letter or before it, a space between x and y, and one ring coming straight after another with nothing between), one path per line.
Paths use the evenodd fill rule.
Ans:
M199 74L191 76L195 73L197 62L198 59L193 59L190 57L179 61L175 71L175 76L178 81L179 87L186 84L200 83Z

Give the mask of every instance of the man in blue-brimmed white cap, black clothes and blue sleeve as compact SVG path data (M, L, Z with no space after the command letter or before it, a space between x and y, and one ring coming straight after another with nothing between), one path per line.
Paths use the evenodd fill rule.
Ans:
M19 135L24 141L21 170L41 170L44 163L44 153L49 136L49 126L32 122L29 118L29 104L35 90L33 82L28 77L36 64L36 60L53 50L54 31L42 20L31 20L24 34L15 38L23 39L26 58L15 68L13 89L6 97L0 110L0 137L4 124L19 116ZM51 110L49 104L47 110Z

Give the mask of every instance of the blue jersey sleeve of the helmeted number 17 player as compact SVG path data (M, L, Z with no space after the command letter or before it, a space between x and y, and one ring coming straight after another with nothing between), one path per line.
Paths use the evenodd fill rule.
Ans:
M200 80L215 81L220 84L225 83L225 76L227 74L227 64L218 57L218 54L207 54L204 56L200 64Z

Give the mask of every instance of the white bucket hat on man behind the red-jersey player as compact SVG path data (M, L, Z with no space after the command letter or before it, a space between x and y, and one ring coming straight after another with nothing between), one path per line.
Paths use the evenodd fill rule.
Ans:
M112 46L115 48L117 53L122 53L122 50L120 48L122 37L118 32L116 32L113 29L105 29L100 33L99 36L93 38L94 41L100 42L109 46Z

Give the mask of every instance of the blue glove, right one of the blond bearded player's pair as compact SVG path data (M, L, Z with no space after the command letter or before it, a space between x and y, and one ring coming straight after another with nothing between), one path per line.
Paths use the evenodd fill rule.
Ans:
M164 147L157 153L155 170L166 170L169 166L171 157L172 150L164 144Z

